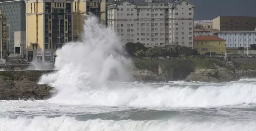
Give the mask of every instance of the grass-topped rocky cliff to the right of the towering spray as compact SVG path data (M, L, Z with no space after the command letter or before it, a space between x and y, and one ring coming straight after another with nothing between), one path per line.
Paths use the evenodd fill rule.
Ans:
M155 81L227 82L240 79L233 67L226 66L225 61L217 59L159 59L135 61L134 65L137 70L154 72L157 75L154 76ZM141 81L147 81L147 74L144 75Z

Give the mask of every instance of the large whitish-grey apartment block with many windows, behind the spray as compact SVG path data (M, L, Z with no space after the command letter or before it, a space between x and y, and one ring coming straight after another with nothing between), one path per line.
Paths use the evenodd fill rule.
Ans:
M117 32L123 44L140 42L146 47L192 46L194 4L159 0L121 0L109 5L108 27Z

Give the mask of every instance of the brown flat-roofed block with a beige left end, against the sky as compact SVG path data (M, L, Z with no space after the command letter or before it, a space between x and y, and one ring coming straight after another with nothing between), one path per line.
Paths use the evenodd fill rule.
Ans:
M219 16L213 19L213 29L218 30L254 30L256 17Z

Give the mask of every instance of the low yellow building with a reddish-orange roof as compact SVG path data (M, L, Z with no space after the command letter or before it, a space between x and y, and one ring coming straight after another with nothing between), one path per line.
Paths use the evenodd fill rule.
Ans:
M211 45L210 45L211 41ZM225 54L226 40L216 36L197 36L194 38L194 49L197 49L200 54Z

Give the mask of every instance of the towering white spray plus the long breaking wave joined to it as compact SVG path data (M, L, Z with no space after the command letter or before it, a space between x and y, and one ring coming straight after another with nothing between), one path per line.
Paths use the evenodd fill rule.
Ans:
M93 106L145 107L207 107L256 103L254 84L225 85L190 82L187 87L116 83L128 80L131 64L118 55L120 42L111 29L102 29L95 17L85 22L82 42L66 44L57 50L55 67L58 72L42 76L40 84L50 84L59 93L48 100L52 103L86 104ZM184 84L184 82L175 82ZM192 88L191 85L200 86Z

